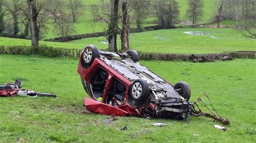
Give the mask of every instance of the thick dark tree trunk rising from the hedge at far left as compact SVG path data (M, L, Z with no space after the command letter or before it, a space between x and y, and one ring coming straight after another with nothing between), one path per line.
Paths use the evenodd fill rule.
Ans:
M38 11L36 8L35 0L26 0L29 8L29 19L30 19L30 33L31 33L31 46L39 46L39 28L37 25Z

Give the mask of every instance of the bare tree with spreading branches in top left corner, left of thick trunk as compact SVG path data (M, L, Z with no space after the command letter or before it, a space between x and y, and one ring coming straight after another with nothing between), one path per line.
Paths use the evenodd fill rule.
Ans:
M12 16L14 20L14 35L17 35L19 32L18 27L18 11L21 9L21 5L24 3L23 0L12 0L12 1L3 1L6 11L9 15Z

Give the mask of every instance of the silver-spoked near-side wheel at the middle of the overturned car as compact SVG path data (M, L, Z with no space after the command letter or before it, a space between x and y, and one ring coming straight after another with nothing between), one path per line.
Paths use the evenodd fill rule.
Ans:
M145 102L149 97L149 85L145 80L135 80L130 87L130 95L134 101Z

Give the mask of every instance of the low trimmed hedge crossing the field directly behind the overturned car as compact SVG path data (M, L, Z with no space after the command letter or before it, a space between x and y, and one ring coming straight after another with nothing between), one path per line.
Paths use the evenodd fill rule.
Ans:
M255 59L256 52L231 52L220 54L163 54L163 53L145 53L138 52L142 60L182 60L192 62L213 62L215 60L232 60L234 58ZM79 49L53 48L42 45L41 47L31 46L0 46L0 54L17 54L17 55L41 55L46 57L62 57L78 59Z

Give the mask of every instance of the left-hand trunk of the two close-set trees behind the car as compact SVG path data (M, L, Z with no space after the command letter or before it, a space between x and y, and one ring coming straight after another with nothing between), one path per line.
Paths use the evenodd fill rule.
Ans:
M109 50L117 52L117 27L118 27L118 3L119 0L110 0L110 25L107 31Z

